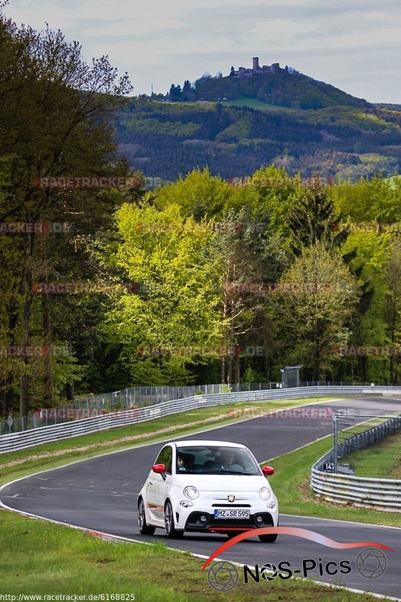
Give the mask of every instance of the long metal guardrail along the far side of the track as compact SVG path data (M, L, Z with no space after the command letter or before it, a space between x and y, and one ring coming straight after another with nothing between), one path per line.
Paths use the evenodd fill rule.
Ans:
M195 395L185 399L158 403L145 408L133 408L111 414L103 414L81 420L73 420L64 424L52 424L38 429L30 429L9 435L0 436L0 454L34 447L52 441L61 441L80 435L88 435L102 430L114 429L155 420L178 414L190 409L223 405L234 402L256 402L263 400L302 399L303 397L322 396L401 396L401 387L393 386L302 386L287 389L266 389L262 391L243 391L242 393L220 393Z

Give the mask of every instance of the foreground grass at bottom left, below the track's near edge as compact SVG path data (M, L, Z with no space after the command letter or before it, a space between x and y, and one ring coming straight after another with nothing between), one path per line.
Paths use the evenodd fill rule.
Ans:
M132 594L137 602L221 602L224 598L209 586L207 569L201 573L204 560L189 553L168 550L159 543L106 542L76 529L7 510L0 510L0 516L2 594L15 595L17 599L19 594ZM369 594L322 588L311 580L261 581L244 585L240 571L230 600L375 600Z

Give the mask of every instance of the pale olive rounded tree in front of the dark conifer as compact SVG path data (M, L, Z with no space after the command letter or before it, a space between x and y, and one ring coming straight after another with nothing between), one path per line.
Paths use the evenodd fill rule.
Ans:
M340 256L318 242L302 250L280 283L284 289L277 327L292 343L287 358L302 363L313 380L320 380L334 362L335 347L349 339L347 323L358 301L358 282ZM292 292L292 283L310 285L317 292Z

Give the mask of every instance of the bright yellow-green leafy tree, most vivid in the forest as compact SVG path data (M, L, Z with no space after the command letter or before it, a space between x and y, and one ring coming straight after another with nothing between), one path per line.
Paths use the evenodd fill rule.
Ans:
M185 219L177 205L159 211L126 204L115 217L121 242L114 261L145 291L115 299L109 312L111 332L123 344L121 361L137 384L188 382L188 366L209 358L175 350L221 344L218 291L203 258L212 233ZM161 347L162 355L143 356L144 347Z

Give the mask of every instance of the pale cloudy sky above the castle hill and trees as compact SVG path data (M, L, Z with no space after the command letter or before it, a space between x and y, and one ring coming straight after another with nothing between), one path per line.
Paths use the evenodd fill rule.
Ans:
M108 55L133 95L280 63L369 102L401 103L399 0L10 0L5 14Z

